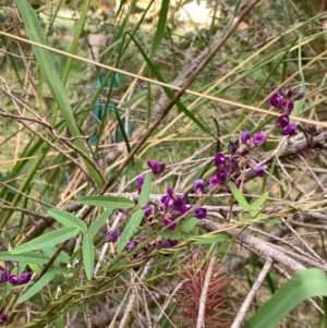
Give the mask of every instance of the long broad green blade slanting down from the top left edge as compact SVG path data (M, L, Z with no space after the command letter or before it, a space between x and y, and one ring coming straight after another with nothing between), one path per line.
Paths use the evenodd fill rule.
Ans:
M21 17L25 26L26 35L28 36L28 38L40 45L47 45L47 40L40 27L39 20L35 11L31 7L29 2L27 0L20 0L16 1L15 3L19 8ZM37 59L37 63L47 81L51 94L55 97L56 101L58 102L59 108L61 109L61 113L64 118L64 121L66 123L66 126L71 135L73 137L80 136L81 133L75 122L68 96L60 81L58 71L56 69L53 58L51 57L49 50L37 46L32 46L32 47L35 57ZM53 117L56 117L56 113L53 113ZM88 155L88 149L83 139L76 138L74 143L81 149L81 151L85 153L86 156ZM90 175L95 179L96 183L99 186L102 186L104 182L99 177L99 174L97 173L97 171L92 166L92 163L88 160L85 160L85 165L88 168Z

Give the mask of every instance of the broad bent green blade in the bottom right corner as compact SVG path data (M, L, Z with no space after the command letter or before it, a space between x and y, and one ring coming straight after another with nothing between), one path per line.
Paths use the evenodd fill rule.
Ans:
M281 287L243 328L275 328L295 306L314 296L327 296L327 276L320 269L305 269Z

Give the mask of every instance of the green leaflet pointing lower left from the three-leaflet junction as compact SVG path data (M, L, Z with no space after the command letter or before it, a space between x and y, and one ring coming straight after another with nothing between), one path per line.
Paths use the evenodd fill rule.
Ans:
M34 240L13 248L10 253L20 254L28 251L56 246L59 243L62 243L71 238L76 236L80 230L76 228L73 227L62 228L59 230L45 233L40 236L37 236Z

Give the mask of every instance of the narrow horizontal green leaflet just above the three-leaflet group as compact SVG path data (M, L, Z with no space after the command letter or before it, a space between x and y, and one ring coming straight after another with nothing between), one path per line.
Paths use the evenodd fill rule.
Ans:
M135 206L135 203L129 198L113 196L87 196L78 199L77 203L105 208L132 208Z

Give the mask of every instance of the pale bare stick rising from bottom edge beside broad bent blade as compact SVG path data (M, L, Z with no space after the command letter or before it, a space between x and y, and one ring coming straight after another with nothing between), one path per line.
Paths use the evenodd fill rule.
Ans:
M266 278L268 271L270 270L271 265L272 265L272 262L271 262L271 259L268 258L267 262L265 263L261 274L258 275L256 281L252 286L250 293L247 294L246 299L244 300L244 302L243 302L239 313L237 314L237 317L230 328L240 328L241 327L242 321L245 317L245 314L246 314L257 290L259 289L261 284L263 283L264 279Z

